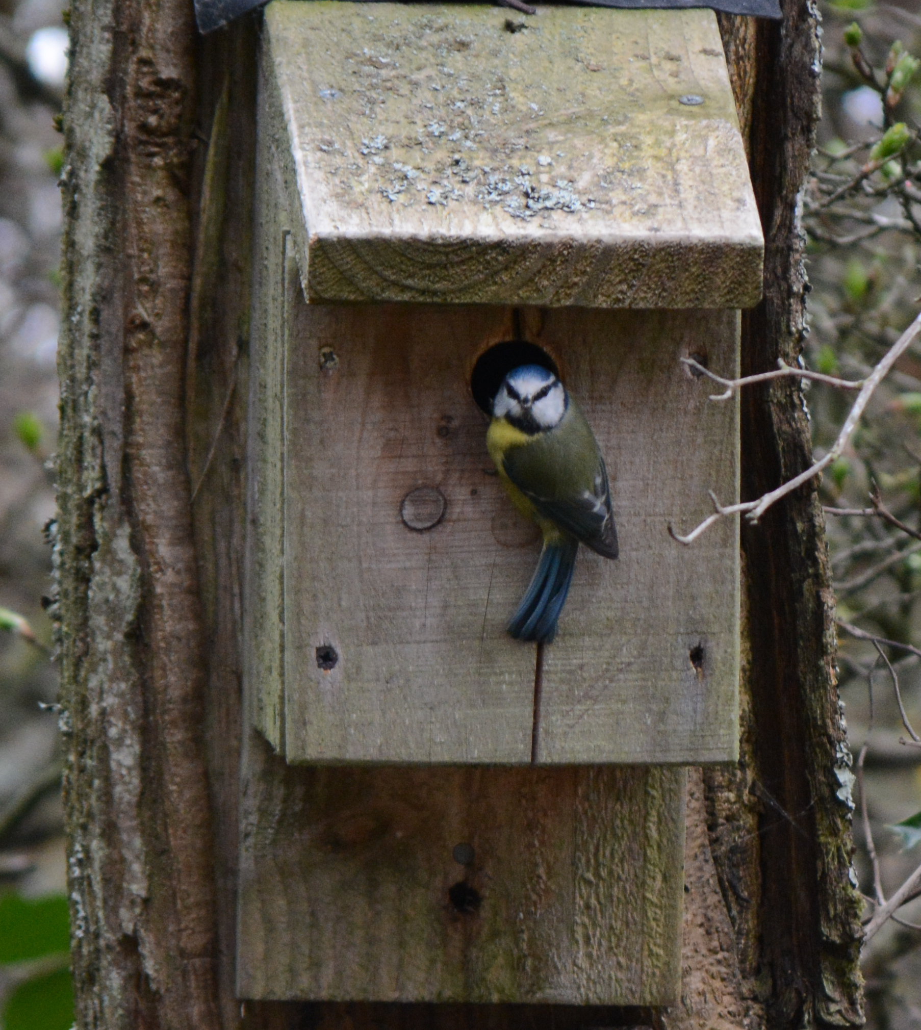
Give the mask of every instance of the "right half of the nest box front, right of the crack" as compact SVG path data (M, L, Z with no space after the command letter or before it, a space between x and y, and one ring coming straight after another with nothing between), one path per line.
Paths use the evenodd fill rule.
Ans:
M737 312L535 313L527 336L557 357L608 462L620 557L581 548L553 644L543 652L541 762L735 757L739 526L692 548L695 524L739 495L739 411L680 364L706 355L737 375Z

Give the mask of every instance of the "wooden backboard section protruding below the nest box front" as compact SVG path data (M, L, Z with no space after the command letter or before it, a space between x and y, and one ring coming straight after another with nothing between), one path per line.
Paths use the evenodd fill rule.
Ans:
M677 998L683 769L244 768L241 997Z

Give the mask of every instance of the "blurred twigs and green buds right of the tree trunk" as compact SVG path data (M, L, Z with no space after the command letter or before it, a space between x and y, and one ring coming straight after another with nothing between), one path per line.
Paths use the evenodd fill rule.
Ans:
M811 369L859 379L921 308L921 5L843 0L822 13L823 117L804 197L812 284L804 357ZM830 386L809 388L818 454L831 446L853 399ZM921 731L921 650L897 646L921 648L917 342L875 394L821 496L831 509L841 695L857 779L857 874L873 898L875 848L889 897L921 862L921 747L913 739ZM878 641L878 650L861 633L893 643ZM866 918L873 907L868 901ZM898 917L864 949L867 1025L881 1030L921 1027L921 899Z

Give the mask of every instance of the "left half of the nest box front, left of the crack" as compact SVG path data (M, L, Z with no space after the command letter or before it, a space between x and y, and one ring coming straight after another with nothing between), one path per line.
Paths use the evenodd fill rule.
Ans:
M505 622L539 535L508 504L469 385L511 313L294 303L285 754L528 761L535 652Z

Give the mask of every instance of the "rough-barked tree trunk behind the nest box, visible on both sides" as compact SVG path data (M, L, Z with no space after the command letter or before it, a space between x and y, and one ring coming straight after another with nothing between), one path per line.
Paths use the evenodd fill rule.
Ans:
M765 238L746 373L805 335L796 200L817 117L806 0L720 24ZM743 530L737 767L689 778L683 1003L240 1005L240 580L260 15L205 40L185 0L74 0L58 457L61 725L78 1025L859 1025L849 757L813 485ZM197 40L197 42L196 42ZM797 385L743 406L743 491L811 458Z

